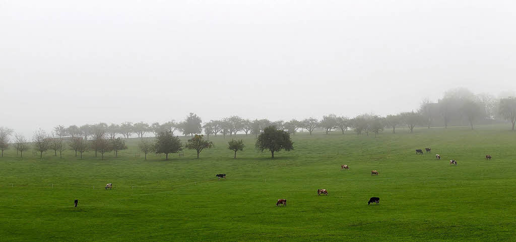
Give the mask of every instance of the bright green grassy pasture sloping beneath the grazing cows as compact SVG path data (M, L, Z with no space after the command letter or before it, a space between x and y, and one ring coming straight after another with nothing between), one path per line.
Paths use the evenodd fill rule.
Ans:
M514 240L509 129L298 133L295 150L275 159L254 150L251 135L238 136L247 147L237 159L221 136L200 159L185 150L169 161L135 157L137 139L105 160L70 151L18 158L11 149L0 158L0 240ZM432 153L415 154L425 147ZM319 188L329 195L317 196ZM367 205L372 196L378 205ZM279 198L286 207L276 207Z

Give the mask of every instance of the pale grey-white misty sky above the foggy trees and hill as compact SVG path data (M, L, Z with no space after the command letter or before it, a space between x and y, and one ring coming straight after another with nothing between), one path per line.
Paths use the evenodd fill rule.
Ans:
M0 126L386 115L516 89L514 1L0 0Z

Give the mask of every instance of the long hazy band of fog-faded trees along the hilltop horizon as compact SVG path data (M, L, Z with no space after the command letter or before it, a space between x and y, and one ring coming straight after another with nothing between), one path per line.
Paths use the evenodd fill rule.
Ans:
M196 138L195 135L204 133L209 139L210 135L234 136L237 133L251 134L257 138L270 126L276 127L287 134L295 135L299 129L307 131L310 135L317 129L326 134L333 130L340 130L343 134L347 130L354 131L358 136L374 133L375 137L385 128L392 128L406 125L409 132L413 132L416 126L444 126L468 124L473 128L477 123L492 123L493 121L508 121L512 130L516 124L516 98L506 97L496 99L489 94L473 94L464 88L451 89L444 93L442 99L437 102L423 100L420 106L414 111L406 111L399 114L387 115L385 117L374 114L361 114L353 118L329 114L321 120L306 118L303 120L292 119L289 121L270 121L268 119L243 119L238 116L231 116L220 120L202 122L196 114L190 113L185 120L175 122L174 120L165 123L144 123L144 122L123 122L121 124L85 124L82 126L70 125L65 127L57 125L51 134L42 129L36 131L29 141L22 134L14 134L12 129L0 127L0 151L2 156L4 150L12 143L14 149L20 156L23 152L33 150L42 153L53 150L54 155L62 154L63 150L69 148L82 157L88 150L94 151L95 156L100 153L114 151L115 155L126 148L122 139L144 137L152 133L156 138L159 134L173 135L178 131L185 136ZM14 134L14 135L13 135ZM120 137L122 136L122 137ZM198 139L198 138L197 138ZM154 146L156 148L156 146ZM198 152L200 153L200 151Z

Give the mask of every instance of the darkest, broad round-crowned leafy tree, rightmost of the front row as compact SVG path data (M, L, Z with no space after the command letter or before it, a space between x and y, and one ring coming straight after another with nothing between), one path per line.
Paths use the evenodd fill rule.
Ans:
M256 139L255 146L260 151L269 150L272 158L275 152L294 150L294 142L290 139L290 135L275 126L266 127Z

